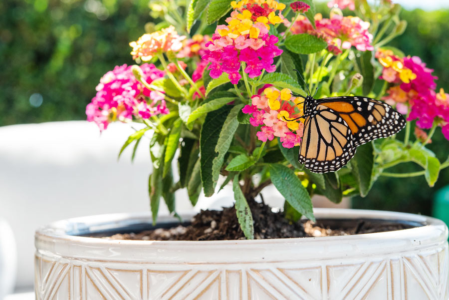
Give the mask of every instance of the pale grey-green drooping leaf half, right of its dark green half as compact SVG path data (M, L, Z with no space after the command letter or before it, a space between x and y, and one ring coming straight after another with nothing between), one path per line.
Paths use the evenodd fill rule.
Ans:
M232 107L223 124L222 131L220 131L217 146L215 146L215 152L217 152L218 155L212 161L212 180L214 182L218 181L225 154L229 149L235 130L237 130L238 127L237 114L242 109L243 105L244 104L239 104Z

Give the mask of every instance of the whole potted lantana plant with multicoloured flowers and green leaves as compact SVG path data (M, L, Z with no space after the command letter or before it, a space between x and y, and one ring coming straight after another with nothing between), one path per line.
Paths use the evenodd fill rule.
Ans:
M151 15L160 22L148 28L157 30L130 42L136 64L107 72L86 108L100 130L114 121L146 125L120 154L132 143L135 153L151 132L154 222L161 198L176 214L176 190L186 188L195 205L201 191L209 197L232 182L236 215L251 239L248 203L270 184L285 198L287 216L313 220L314 194L335 203L366 196L379 176L425 176L433 186L449 166L449 159L440 162L426 148L438 128L449 140L449 94L436 91L437 77L419 57L387 46L407 25L398 4L332 0L324 12L329 18L316 12L312 0L183 5L151 1ZM310 172L298 162L304 99L294 95L315 90L316 99L358 95L386 101L407 118L405 137L358 147L337 172ZM178 168L172 168L175 157ZM418 165L416 172L390 169L409 162Z

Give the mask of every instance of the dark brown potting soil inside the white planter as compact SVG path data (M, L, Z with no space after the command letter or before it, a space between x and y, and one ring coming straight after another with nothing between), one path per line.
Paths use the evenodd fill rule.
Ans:
M282 212L272 212L271 208L261 203L250 203L254 220L255 239L303 238L343 236L353 234L375 233L408 229L414 226L370 220L301 220L292 223L283 217ZM113 240L158 240L158 241L212 241L244 240L233 207L223 211L201 211L188 226L169 229L155 229L140 233L115 234L104 237Z

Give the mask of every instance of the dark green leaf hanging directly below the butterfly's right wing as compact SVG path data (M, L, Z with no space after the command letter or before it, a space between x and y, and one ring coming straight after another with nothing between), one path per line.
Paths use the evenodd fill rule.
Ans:
M356 154L350 160L351 170L359 185L360 196L368 195L373 186L374 149L372 143L366 143L357 148Z

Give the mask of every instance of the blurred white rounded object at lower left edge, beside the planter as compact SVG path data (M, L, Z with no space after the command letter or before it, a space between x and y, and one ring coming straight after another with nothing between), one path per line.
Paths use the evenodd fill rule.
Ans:
M0 300L14 290L17 272L16 251L11 227L0 217Z

